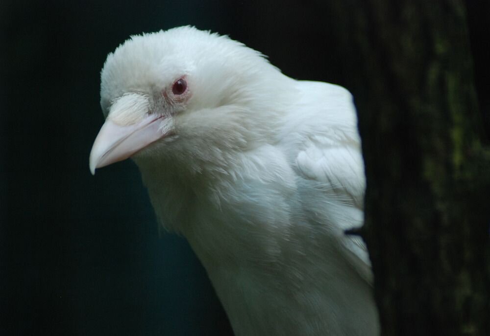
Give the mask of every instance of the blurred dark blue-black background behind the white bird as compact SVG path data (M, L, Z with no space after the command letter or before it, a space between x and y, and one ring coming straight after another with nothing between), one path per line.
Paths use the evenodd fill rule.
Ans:
M488 130L485 2L467 8ZM230 335L186 241L160 232L136 166L90 175L99 71L129 35L192 24L263 52L291 77L363 94L362 60L332 22L319 0L2 1L0 335Z

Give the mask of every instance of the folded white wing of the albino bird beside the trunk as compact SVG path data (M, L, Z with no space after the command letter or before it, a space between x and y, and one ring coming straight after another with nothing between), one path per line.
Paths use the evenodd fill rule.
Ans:
M316 184L316 189L328 201L324 203L327 218L339 229L336 231L339 232L341 250L346 259L365 280L372 283L368 251L363 240L343 233L362 226L364 221L364 161L352 96L337 86L319 87L322 84L303 84L309 94L312 85L316 85L316 97L310 99L319 100L320 94L321 101L327 102L328 107L316 106L320 115L318 110L312 112L316 117L311 116L311 119L316 122L302 130L303 141L295 165L300 176Z

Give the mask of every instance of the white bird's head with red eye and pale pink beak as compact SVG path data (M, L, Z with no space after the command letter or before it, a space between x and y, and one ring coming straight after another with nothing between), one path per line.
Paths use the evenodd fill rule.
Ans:
M274 111L284 110L271 101L288 104L285 78L255 50L194 27L133 36L101 71L106 120L90 170L155 156L193 160L198 170L196 162L265 141Z

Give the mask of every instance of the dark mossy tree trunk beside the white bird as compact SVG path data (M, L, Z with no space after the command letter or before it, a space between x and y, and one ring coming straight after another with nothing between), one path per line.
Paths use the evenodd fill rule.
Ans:
M460 0L347 0L383 335L490 335L490 150ZM334 3L335 2L335 3Z

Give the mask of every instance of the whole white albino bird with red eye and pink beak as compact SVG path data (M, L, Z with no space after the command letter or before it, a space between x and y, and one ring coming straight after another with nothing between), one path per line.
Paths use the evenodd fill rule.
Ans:
M237 336L379 334L357 119L342 87L185 26L133 36L101 72L90 169L131 157Z

